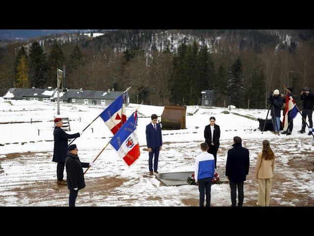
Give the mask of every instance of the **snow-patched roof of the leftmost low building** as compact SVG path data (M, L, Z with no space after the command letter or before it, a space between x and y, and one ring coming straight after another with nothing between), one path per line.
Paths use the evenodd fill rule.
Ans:
M22 99L22 97L51 97L53 90L49 89L21 89L11 88L3 96L4 98Z

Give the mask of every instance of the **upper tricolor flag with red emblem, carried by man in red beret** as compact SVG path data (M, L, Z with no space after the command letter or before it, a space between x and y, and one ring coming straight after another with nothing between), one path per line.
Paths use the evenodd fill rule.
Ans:
M112 102L99 116L113 134L117 133L127 120L123 95Z

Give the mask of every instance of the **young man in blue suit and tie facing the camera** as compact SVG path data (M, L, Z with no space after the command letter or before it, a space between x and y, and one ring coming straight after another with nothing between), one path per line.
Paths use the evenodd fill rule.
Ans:
M154 172L158 173L158 155L162 148L162 137L161 137L161 127L157 123L157 115L153 114L151 116L152 122L146 125L146 142L149 151L148 167L150 176L153 174L153 156L154 158Z

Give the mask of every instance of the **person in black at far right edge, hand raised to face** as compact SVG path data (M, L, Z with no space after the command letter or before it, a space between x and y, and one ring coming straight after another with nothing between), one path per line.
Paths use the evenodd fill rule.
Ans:
M302 117L306 120L306 117L309 118L310 128L313 128L313 106L314 106L314 93L308 87L305 87L301 91L301 101L303 101L303 110ZM305 133L306 122L302 119L302 128L299 133ZM312 132L309 132L308 135L312 135Z

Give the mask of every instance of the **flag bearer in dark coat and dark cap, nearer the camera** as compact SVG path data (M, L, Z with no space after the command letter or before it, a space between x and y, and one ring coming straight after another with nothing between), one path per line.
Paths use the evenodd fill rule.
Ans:
M75 200L78 197L78 190L83 189L85 185L83 168L93 166L93 162L80 162L78 158L78 148L75 144L68 147L65 168L67 171L67 183L70 190L69 207L75 207Z

